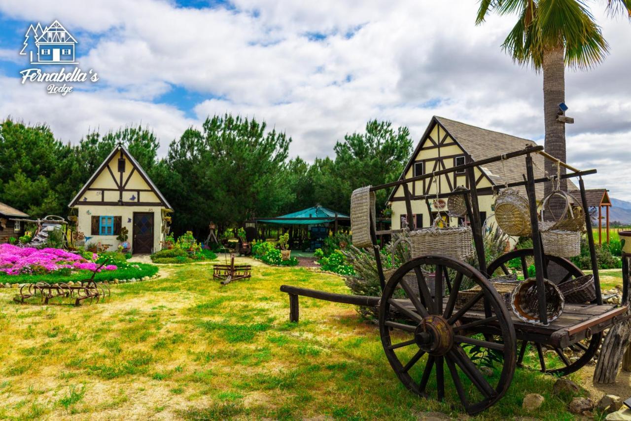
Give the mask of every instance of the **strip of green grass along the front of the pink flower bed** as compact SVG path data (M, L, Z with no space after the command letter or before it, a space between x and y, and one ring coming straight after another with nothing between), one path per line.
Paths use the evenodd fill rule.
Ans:
M153 276L158 273L158 267L156 265L146 263L133 263L132 265L137 265L138 267L116 269L115 271L101 271L95 275L94 280L97 282L102 282L113 281L114 279L139 279L143 278L144 276ZM78 271L70 275L7 275L5 272L0 272L0 283L27 284L45 282L49 284L54 284L57 282L83 281L84 279L90 279L91 276L91 271Z

